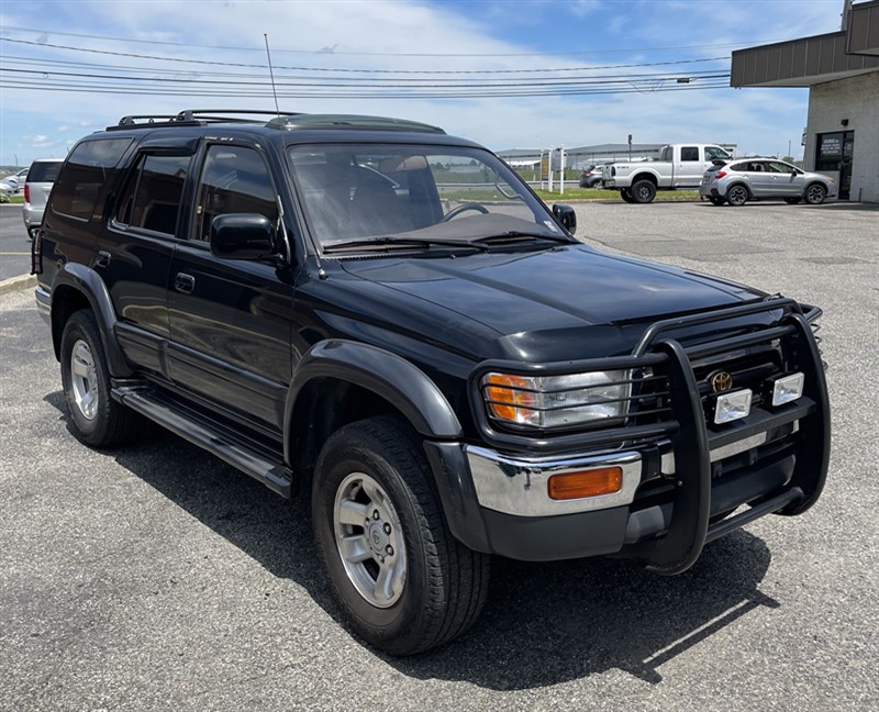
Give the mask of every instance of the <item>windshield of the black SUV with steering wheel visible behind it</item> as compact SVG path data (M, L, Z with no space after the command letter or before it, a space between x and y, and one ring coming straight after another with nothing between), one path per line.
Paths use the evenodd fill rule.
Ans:
M331 144L288 152L309 230L322 247L460 242L561 230L488 151Z

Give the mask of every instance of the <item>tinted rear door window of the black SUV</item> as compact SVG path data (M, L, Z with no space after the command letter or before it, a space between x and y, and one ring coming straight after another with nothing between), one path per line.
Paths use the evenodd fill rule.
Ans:
M120 198L116 222L174 235L188 169L189 156L141 156Z

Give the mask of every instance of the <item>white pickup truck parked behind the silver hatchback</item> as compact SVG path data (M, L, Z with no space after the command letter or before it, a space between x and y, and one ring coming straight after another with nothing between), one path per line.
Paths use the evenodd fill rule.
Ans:
M715 144L671 144L663 146L659 160L602 166L601 185L619 190L626 202L648 203L657 190L698 188L712 162L730 158L732 155Z

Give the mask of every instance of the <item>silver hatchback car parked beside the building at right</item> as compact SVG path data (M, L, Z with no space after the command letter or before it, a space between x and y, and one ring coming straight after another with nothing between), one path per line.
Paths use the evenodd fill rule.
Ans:
M715 205L744 205L748 200L781 199L819 205L836 194L833 178L808 173L778 158L734 158L709 168L699 194Z

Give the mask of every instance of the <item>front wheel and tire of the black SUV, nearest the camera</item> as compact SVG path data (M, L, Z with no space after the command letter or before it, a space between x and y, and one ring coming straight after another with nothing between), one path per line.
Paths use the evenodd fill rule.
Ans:
M452 536L407 423L371 418L331 435L318 458L311 507L333 596L368 643L413 655L476 621L490 559Z

